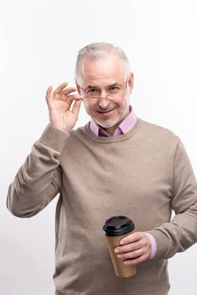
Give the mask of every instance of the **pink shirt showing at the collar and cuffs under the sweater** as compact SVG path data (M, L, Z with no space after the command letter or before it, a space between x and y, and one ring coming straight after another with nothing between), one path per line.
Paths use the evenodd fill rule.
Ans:
M113 136L121 135L121 134L128 132L136 123L137 116L135 115L135 112L134 112L131 105L129 106L129 111L130 111L129 116L126 119L124 119L124 121L118 126L118 128L116 128ZM102 127L99 126L92 118L89 123L89 127L92 130L92 132L95 133L97 136L109 136L109 134L106 131L104 131L102 129ZM60 129L60 130L69 134L69 132L67 132L65 130L62 130L62 129ZM149 259L151 259L155 256L155 253L157 250L156 240L151 234L145 233L145 232L144 232L144 234L149 236L149 238L151 240L152 248L151 248L151 256L149 258Z

